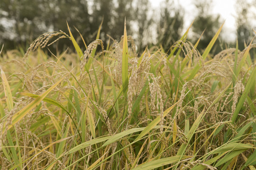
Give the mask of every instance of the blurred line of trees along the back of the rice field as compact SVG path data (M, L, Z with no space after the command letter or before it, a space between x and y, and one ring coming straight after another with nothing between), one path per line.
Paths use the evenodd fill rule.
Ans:
M204 31L198 45L199 51L206 48L224 22L220 16L210 14L212 3L209 0L193 1L197 17L189 41L195 43ZM254 36L253 26L247 19L247 9L251 5L255 3L237 0L239 49L244 49ZM149 0L0 0L0 44L4 43L5 51L17 48L26 50L43 33L59 30L67 33L67 21L74 37L83 46L75 28L89 44L95 39L102 19L100 38L105 43L110 37L119 41L123 35L125 17L128 35L135 39L138 52L147 45L160 45L167 51L187 29L184 28L184 9L174 0L163 0L157 10L152 10ZM61 40L51 48L64 49L69 43L68 40ZM235 42L227 42L220 36L212 52L218 53L227 47L235 47Z

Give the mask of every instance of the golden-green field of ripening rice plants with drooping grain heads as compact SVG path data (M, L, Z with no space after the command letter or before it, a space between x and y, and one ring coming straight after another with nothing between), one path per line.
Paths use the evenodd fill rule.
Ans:
M68 29L1 52L0 169L256 170L256 44L213 56L221 28L204 51L188 29L138 54L125 25L120 42L100 26L83 47ZM75 51L49 55L62 38Z

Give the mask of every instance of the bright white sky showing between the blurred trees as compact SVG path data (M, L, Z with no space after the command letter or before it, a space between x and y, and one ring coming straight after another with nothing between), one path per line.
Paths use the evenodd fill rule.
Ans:
M153 8L159 7L160 3L163 0L150 0ZM174 2L179 3L185 11L184 14L184 30L186 30L194 18L197 15L195 5L193 5L193 0L174 0ZM226 40L232 42L236 40L236 9L235 9L236 0L212 0L212 7L210 14L220 15L221 23L225 21L225 24L222 29L222 35Z

